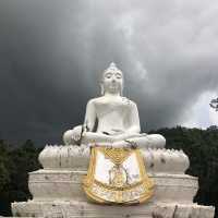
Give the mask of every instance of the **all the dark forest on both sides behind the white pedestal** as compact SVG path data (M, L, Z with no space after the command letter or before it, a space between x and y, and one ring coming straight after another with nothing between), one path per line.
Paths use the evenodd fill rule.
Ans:
M167 148L184 150L191 164L186 173L199 180L194 201L218 208L218 128L199 130L177 126L150 133L162 134L167 138ZM0 141L0 215L10 215L11 202L31 198L28 172L40 168L37 160L40 150L32 141L16 147Z

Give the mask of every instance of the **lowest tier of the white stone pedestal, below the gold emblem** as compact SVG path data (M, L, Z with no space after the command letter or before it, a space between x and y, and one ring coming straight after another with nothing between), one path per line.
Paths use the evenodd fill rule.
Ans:
M14 216L45 218L213 218L214 207L196 204L96 205L85 202L14 203Z

